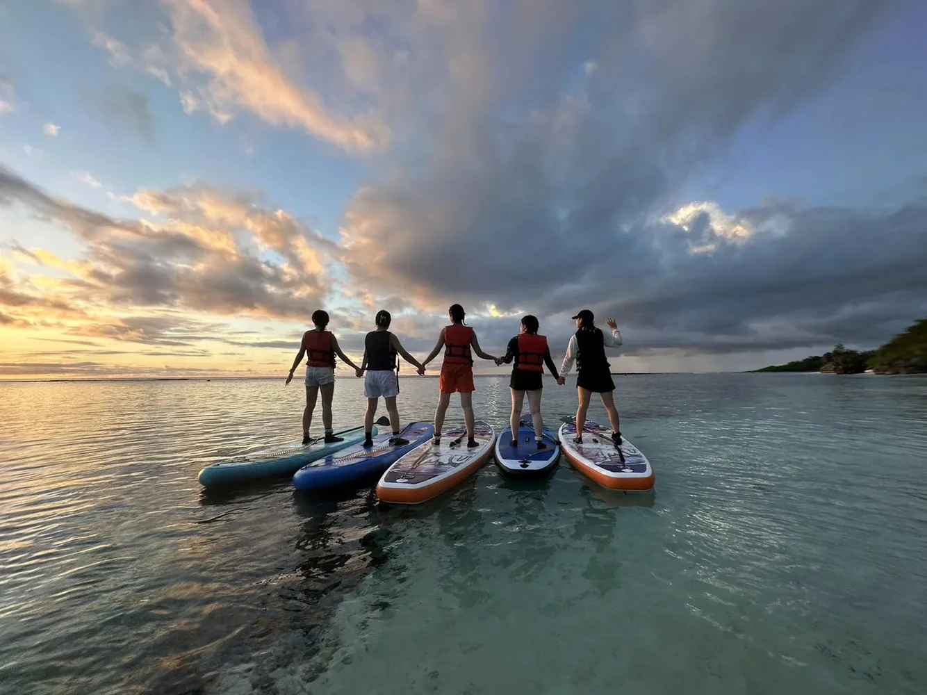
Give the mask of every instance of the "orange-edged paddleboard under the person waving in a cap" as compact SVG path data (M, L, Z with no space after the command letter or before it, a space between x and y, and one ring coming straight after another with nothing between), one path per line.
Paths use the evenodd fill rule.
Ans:
M560 427L560 446L566 460L581 474L611 490L649 490L654 486L654 470L641 451L622 437L621 455L612 442L612 431L587 420L582 444L575 444L576 423Z

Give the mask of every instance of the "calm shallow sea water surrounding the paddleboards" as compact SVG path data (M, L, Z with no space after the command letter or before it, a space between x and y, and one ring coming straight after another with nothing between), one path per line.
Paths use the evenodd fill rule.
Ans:
M653 494L489 465L411 510L201 491L298 435L300 387L0 385L0 689L927 691L927 379L616 382ZM401 387L430 420L437 381ZM504 426L507 379L477 389ZM361 396L339 380L336 424Z

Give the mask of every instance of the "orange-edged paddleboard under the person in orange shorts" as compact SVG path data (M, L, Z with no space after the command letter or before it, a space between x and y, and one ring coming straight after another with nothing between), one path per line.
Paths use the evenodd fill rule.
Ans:
M492 425L474 423L479 446L468 449L466 428L447 430L441 443L413 449L387 469L376 486L376 496L390 504L420 504L464 481L492 454L496 432Z

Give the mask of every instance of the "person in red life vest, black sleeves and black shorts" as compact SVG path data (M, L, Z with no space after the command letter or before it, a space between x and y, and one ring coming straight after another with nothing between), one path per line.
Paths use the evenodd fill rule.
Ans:
M515 335L509 341L509 347L505 351L505 357L496 360L496 364L511 364L514 360L512 369L512 378L509 380L509 388L512 391L512 417L509 424L512 426L513 446L518 446L518 427L521 423L522 406L525 404L525 394L527 393L527 404L531 411L531 420L534 424L534 438L538 443L538 449L547 449L544 443L544 419L540 414L540 395L544 384L541 374L544 373L544 365L553 374L553 378L560 384L560 375L557 373L557 367L551 358L551 349L547 345L547 338L538 335L539 323L535 316L528 314L522 319L521 333ZM561 384L562 385L562 384Z

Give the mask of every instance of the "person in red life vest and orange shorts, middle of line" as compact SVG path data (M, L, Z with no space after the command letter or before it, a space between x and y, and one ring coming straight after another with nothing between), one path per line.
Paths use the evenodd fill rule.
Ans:
M473 392L476 385L473 383L473 353L483 360L496 360L492 355L483 352L476 339L476 332L464 324L464 307L460 304L451 305L448 310L451 325L444 326L438 335L438 343L431 354L422 362L424 367L428 362L438 357L441 347L444 347L444 361L441 363L441 378L438 384L440 398L438 408L435 410L435 438L434 444L441 443L441 427L444 425L444 415L451 404L451 394L461 395L461 407L464 409L464 423L466 424L467 447L479 446L473 438L474 422ZM472 349L471 349L472 348Z

